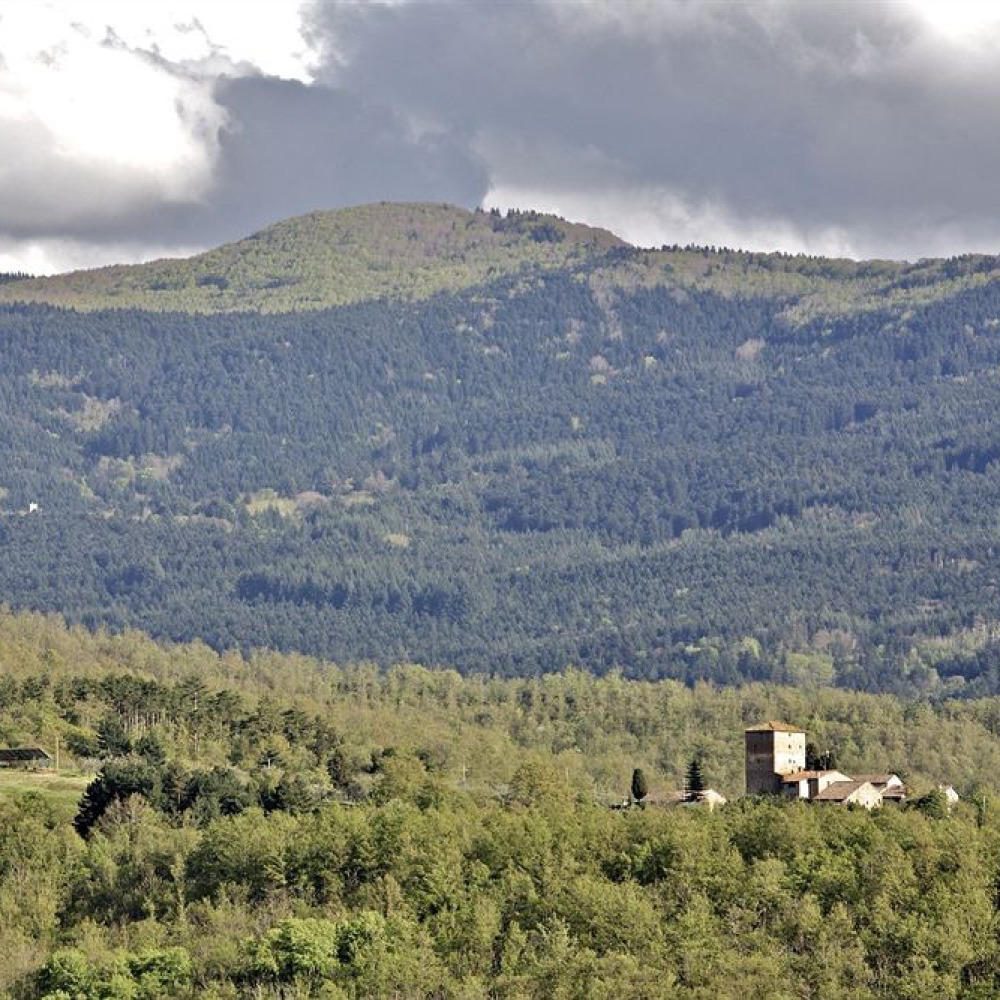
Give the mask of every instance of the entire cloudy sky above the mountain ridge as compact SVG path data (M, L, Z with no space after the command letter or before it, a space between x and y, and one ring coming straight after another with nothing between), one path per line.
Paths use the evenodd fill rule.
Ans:
M1000 253L993 0L0 0L0 271L372 201Z

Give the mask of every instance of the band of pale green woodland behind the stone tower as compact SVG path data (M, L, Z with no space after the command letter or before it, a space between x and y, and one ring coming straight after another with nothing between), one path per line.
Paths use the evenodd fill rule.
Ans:
M414 665L219 655L10 614L0 615L0 666L0 741L51 751L58 737L64 760L85 767L136 754L157 766L169 759L194 771L259 773L262 788L291 762L323 795L363 797L387 748L481 792L507 785L522 763L555 755L574 787L614 802L634 767L671 790L697 756L709 783L735 797L744 728L778 718L806 728L847 773L895 771L918 791L947 782L968 795L1000 792L995 698L688 687L579 670L462 677Z

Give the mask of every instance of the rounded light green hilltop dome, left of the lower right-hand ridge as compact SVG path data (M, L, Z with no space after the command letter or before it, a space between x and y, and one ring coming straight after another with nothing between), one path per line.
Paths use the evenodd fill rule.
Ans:
M423 299L524 267L558 268L622 245L611 233L527 213L365 205L279 222L187 260L105 267L0 285L0 302L77 309L227 312Z

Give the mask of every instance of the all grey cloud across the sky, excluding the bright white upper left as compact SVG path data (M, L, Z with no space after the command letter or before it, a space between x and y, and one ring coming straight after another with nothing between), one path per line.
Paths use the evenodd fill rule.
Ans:
M904 4L320 2L307 27L308 84L156 63L198 126L189 189L0 115L0 244L191 248L316 208L537 195L651 242L681 220L681 242L1000 248L1000 38L957 45Z

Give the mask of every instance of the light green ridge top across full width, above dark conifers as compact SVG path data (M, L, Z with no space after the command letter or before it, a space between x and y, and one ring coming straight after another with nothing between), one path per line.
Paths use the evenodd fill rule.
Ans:
M1000 279L1000 258L913 263L716 247L639 248L606 230L535 211L379 202L276 222L188 258L48 277L4 275L0 304L80 311L309 312L421 301L513 275L582 269L595 294L668 287L782 303L792 326L893 307L900 313Z

